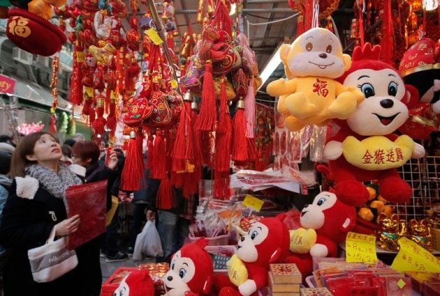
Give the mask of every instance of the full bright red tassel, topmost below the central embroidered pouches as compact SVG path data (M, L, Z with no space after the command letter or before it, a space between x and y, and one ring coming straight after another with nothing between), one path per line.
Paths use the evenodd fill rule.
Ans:
M216 104L214 80L212 78L212 63L207 61L205 64L205 75L203 75L202 102L200 105L200 114L196 122L196 130L214 130L217 118Z

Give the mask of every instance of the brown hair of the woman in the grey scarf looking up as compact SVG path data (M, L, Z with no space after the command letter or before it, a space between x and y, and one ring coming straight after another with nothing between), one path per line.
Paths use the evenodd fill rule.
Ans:
M34 154L35 143L41 138L41 136L43 136L43 134L48 134L54 139L54 141L57 140L48 132L33 132L23 137L15 148L10 162L10 178L26 176L24 169L26 169L27 166L36 163L36 160L27 159L26 155Z

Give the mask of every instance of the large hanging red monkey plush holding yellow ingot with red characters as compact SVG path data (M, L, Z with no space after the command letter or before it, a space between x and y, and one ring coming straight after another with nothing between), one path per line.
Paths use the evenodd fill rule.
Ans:
M411 186L397 168L409 158L422 157L425 149L413 139L393 134L408 118L408 107L418 101L418 91L405 85L399 72L379 61L379 45L355 47L349 71L339 79L356 86L365 100L346 120L335 120L340 129L328 139L324 156L335 179L335 194L348 205L362 205L369 193L362 184L378 180L381 196L404 203L412 196Z

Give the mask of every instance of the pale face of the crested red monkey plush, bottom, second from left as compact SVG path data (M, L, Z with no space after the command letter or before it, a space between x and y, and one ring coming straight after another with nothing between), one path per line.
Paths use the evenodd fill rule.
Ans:
M193 260L182 256L182 251L177 251L170 263L170 270L163 276L163 286L166 295L183 296L191 291L188 286L189 281L196 274L196 266Z

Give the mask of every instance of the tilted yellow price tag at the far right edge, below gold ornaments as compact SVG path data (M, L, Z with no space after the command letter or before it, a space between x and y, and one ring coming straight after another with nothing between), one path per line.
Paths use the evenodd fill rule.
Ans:
M400 251L391 267L398 272L439 272L440 259L406 237L399 239Z

